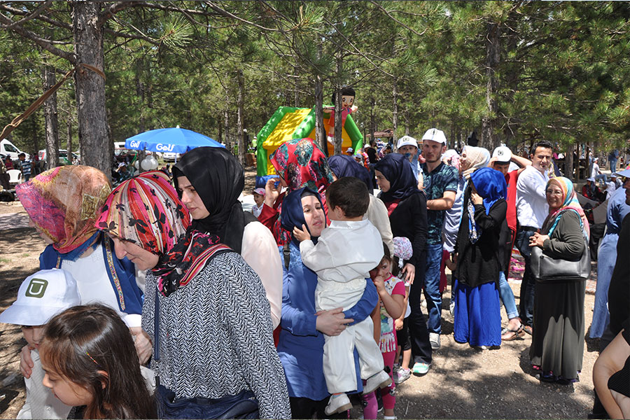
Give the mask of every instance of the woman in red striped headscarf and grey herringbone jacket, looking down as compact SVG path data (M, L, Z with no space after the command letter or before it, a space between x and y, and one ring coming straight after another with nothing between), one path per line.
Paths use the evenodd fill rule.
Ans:
M113 190L97 221L119 258L150 270L142 325L153 340L158 400L213 399L203 412L167 414L180 418L213 418L218 403L235 400L257 400L252 415L262 419L288 418L262 283L218 236L189 227L184 207L165 174L146 172Z

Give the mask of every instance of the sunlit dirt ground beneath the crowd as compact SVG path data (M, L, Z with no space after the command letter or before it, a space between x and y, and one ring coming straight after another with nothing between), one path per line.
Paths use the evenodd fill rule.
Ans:
M253 189L249 169L245 193ZM38 268L43 241L25 228L19 202L0 202L0 310L15 300L23 279ZM510 279L514 295L519 283ZM589 290L594 290L590 282ZM529 365L531 337L504 343L500 349L479 350L453 339L453 318L444 292L442 347L424 377L412 377L398 386L395 414L399 419L585 419L593 401L592 367L598 356L596 340L584 344L580 382L570 386L543 384ZM591 324L594 296L587 293L584 313ZM503 323L507 322L502 309ZM24 381L19 372L19 351L25 345L20 328L0 324L0 418L15 418L24 403ZM359 410L353 409L353 416ZM382 413L379 413L382 418Z

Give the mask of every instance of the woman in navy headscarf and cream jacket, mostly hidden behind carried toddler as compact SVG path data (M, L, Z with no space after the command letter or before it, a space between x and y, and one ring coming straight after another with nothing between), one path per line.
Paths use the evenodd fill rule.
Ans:
M365 217L379 230L381 239L387 245L387 248L389 248L391 255L393 255L393 235L391 235L387 209L383 202L372 194L374 188L372 188L372 180L370 179L370 174L367 172L367 169L348 155L330 156L330 158L328 158L328 165L332 171L332 178L335 179L335 181L344 176L354 176L365 183L367 190L370 191L370 206L367 207Z

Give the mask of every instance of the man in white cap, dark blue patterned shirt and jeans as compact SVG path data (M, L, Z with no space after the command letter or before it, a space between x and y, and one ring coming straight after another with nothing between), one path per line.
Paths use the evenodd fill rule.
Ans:
M457 191L458 172L444 165L442 153L446 151L447 139L442 130L431 128L422 136L422 155L426 162L421 164L423 187L426 193L427 240L424 296L429 313L427 328L432 349L440 348L442 332L442 293L440 293L440 263L442 262L442 225L444 214L453 207ZM414 369L415 372L415 369Z

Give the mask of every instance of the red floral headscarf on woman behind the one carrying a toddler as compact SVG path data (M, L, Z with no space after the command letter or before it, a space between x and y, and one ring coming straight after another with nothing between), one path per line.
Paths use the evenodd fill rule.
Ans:
M269 160L286 182L289 192L308 187L321 193L332 183L332 171L326 156L312 139L286 141Z

